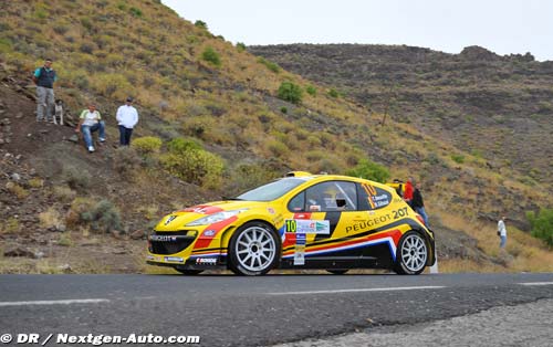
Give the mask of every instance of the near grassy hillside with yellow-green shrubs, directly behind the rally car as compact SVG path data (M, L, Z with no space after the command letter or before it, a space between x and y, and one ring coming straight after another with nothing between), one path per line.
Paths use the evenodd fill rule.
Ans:
M342 174L364 158L395 178L422 182L440 259L450 260L446 270L533 271L553 263L540 242L514 228L507 253L494 244L493 219L509 210L510 225L526 228L525 211L552 204L546 186L530 186L509 166L490 170L481 156L405 122L382 125L382 113L330 95L159 1L3 8L1 272L60 272L65 263L73 272L149 271L142 239L163 214L291 169ZM71 115L90 102L103 113L107 144L96 153L70 140L72 127L35 122L30 76L44 57L54 60L56 97ZM283 82L311 93L300 103L283 101ZM132 148L117 148L114 114L127 95L140 122ZM18 249L23 259L12 257Z

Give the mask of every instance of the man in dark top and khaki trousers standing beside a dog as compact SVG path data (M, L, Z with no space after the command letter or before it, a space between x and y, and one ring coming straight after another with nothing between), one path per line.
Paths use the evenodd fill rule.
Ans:
M55 81L58 76L52 69L52 60L46 59L44 66L36 69L33 74L33 82L36 85L36 122L53 119ZM44 108L46 114L44 114Z

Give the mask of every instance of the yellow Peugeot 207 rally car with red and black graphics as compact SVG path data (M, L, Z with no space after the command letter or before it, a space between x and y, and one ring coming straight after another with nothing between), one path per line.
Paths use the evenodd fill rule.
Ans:
M173 212L148 235L147 263L185 274L230 269L392 269L435 262L434 232L394 188L346 176L290 172L225 201Z

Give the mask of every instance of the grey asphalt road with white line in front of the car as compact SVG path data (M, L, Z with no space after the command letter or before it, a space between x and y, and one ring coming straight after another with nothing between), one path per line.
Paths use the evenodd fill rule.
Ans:
M58 334L188 335L200 336L201 346L317 346L323 343L298 341L427 328L452 317L472 320L492 307L553 303L549 299L553 274L0 275L0 335L34 333L43 341L54 334L46 346L56 345ZM470 325L465 329L471 333Z

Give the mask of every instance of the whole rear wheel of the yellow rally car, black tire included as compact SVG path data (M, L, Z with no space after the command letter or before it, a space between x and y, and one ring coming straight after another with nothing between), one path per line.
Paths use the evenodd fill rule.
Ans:
M399 275L418 275L425 271L428 255L425 238L416 231L409 231L399 241L394 271Z

